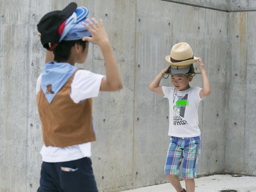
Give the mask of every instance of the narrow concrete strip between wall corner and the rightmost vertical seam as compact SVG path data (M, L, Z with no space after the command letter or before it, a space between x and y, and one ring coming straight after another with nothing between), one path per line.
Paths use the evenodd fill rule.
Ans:
M225 166L244 170L244 129L246 102L247 13L230 13L230 45L227 70L227 127ZM231 151L236 151L236 155Z

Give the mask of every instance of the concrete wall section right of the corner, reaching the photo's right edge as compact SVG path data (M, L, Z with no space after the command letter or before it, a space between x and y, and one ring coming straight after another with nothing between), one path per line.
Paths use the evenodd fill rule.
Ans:
M253 175L256 174L255 16L255 12L230 13L225 152L227 171Z

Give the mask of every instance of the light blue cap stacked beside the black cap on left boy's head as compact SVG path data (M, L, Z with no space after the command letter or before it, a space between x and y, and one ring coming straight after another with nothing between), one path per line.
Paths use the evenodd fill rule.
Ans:
M83 37L91 37L91 33L83 26L82 22L88 26L90 24L86 21L89 11L86 7L79 7L75 12L66 20L64 30L62 32L60 41L78 40ZM91 26L90 26L91 27Z

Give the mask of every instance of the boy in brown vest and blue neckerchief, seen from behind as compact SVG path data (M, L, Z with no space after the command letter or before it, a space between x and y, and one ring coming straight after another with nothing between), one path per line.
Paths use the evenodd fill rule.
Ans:
M87 14L70 3L38 23L47 49L36 87L44 141L38 192L98 192L89 158L96 140L91 98L122 89L122 80L102 20L99 25ZM74 66L86 60L88 41L101 48L106 76Z

